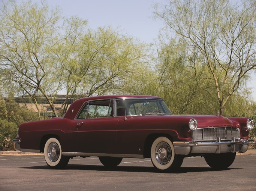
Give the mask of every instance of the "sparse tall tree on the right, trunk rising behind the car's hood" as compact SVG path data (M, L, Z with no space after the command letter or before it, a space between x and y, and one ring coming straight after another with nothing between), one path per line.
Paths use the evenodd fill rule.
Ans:
M174 0L162 8L156 6L156 17L190 51L196 50L196 60L207 67L223 115L230 97L256 67L256 1Z

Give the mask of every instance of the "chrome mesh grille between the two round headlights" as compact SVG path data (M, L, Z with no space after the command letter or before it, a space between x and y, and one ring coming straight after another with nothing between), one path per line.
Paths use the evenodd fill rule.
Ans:
M213 127L201 128L192 132L192 140L195 141L216 141L217 137L221 140L232 140L240 138L240 130L234 127Z

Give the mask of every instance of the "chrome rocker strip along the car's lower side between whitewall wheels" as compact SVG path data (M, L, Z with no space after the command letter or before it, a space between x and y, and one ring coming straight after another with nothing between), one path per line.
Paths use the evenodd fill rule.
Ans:
M144 159L142 154L108 154L108 153L77 153L77 152L62 152L62 154L64 156L122 157L122 158Z

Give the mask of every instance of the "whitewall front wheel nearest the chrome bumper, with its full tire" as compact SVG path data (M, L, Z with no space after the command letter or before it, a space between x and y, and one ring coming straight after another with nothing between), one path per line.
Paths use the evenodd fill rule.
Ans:
M151 162L159 170L177 169L184 157L176 155L174 146L167 137L158 137L151 146Z

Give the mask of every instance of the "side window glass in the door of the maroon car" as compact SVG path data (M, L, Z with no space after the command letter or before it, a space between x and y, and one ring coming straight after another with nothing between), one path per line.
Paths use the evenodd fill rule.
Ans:
M114 116L113 100L91 101L84 106L77 119L106 118Z

